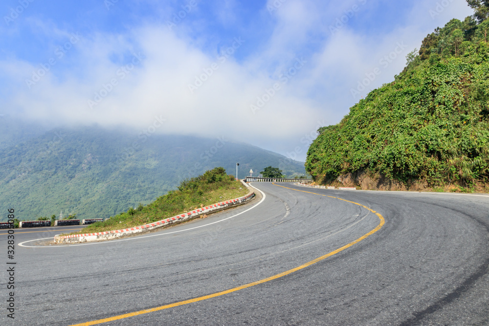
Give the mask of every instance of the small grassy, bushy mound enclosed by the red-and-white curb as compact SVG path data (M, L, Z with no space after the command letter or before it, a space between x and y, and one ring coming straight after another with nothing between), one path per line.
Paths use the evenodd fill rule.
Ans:
M244 196L247 189L233 175L227 175L224 168L214 168L204 174L185 179L178 190L170 191L158 197L147 206L139 204L130 207L104 222L90 224L79 233L91 233L116 230L126 227L144 225L158 220L173 217L194 208L207 206L223 200Z

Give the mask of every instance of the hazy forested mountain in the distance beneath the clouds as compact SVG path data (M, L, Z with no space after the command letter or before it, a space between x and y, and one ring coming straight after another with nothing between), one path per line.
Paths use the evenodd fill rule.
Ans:
M14 207L21 220L61 211L110 217L206 170L222 166L236 174L236 163L240 178L270 165L305 174L302 162L228 139L55 129L0 148L0 210Z

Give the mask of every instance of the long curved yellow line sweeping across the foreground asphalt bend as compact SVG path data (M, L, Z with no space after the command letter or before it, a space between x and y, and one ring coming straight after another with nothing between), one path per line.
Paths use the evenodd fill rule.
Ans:
M275 183L272 183L272 184L275 185L275 186L278 186L278 187L287 188L287 187L284 187L284 186L279 186L279 185L277 185ZM305 264L302 264L302 265L300 265L298 267L289 269L288 271L282 272L282 273L277 274L277 275L270 276L270 277L268 277L266 279L263 279L263 280L260 280L260 281L256 281L256 282L252 282L252 283L247 283L247 284L244 284L244 285L241 285L241 286L238 286L238 287L233 287L233 288L228 289L228 290L224 290L224 291L221 291L221 292L209 294L209 295L206 295L206 296L203 296L203 297L198 297L198 298L194 298L194 299L190 299L190 300L176 302L174 304L161 305L161 306L155 307L155 308L134 311L134 312L130 312L130 313L123 314L123 315L118 315L118 316L113 316L113 317L109 317L109 318L94 320L94 321L91 321L91 322L86 322L86 323L81 323L81 324L76 324L76 325L71 325L71 326L89 326L89 325L95 325L95 324L108 323L108 322L112 322L114 320L119 320L119 319L124 319L124 318L128 318L128 317L137 316L137 315L147 314L147 313L150 313L150 312L164 310L164 309L168 309L168 308L172 308L172 307L178 307L179 305L191 304L191 303L194 303L194 302L199 302L199 301L202 301L202 300L207 300L207 299L219 297L219 296L222 296L224 294L228 294L228 293L231 293L231 292L243 290L243 289L245 289L247 287L251 287L251 286L254 286L254 285L266 283L266 282L269 282L269 281L272 281L272 280L275 280L275 279L284 277L286 275L289 275L289 274L291 274L293 272L296 272L298 270L304 269L304 268L306 268L308 266L311 266L312 264L315 264L318 261L322 261L322 260L324 260L324 259L326 259L328 257L331 257L331 256L333 256L333 255L335 255L335 254L337 254L337 253L339 253L339 252L341 252L341 251L343 251L343 250L345 250L345 249L353 246L354 244L360 242L361 240L363 240L363 239L365 239L365 238L373 235L374 233L376 233L378 230L380 230L380 228L382 227L382 225L384 225L384 223L385 223L385 219L384 219L384 217L382 217L382 215L378 214L376 211L368 208L367 206L364 206L362 204L358 204L358 203L356 203L354 201L350 201L350 200L346 200L346 199L341 199L341 198L337 198L337 197L333 197L333 196L327 196L327 195L321 195L321 194L311 193L311 192L308 192L308 191L297 190L297 189L292 189L292 188L287 188L287 189L294 190L294 191L300 191L300 192L303 192L303 193L309 193L309 194L319 195L319 196L326 196L326 197L330 197L330 198L334 198L334 199L339 199L339 200L343 200L343 201L346 201L346 202L349 202L349 203L353 203L353 204L359 205L359 206L361 206L361 207L363 207L363 208L371 211L372 213L375 213L378 216L378 218L380 219L380 223L378 223L377 227L375 229L373 229L372 231L370 231L369 233L361 236L360 238L356 239L353 242L350 242L350 243L344 245L341 248L338 248L338 249L330 252L329 254L326 254L324 256L321 256L319 258L316 258L315 260L306 262Z

